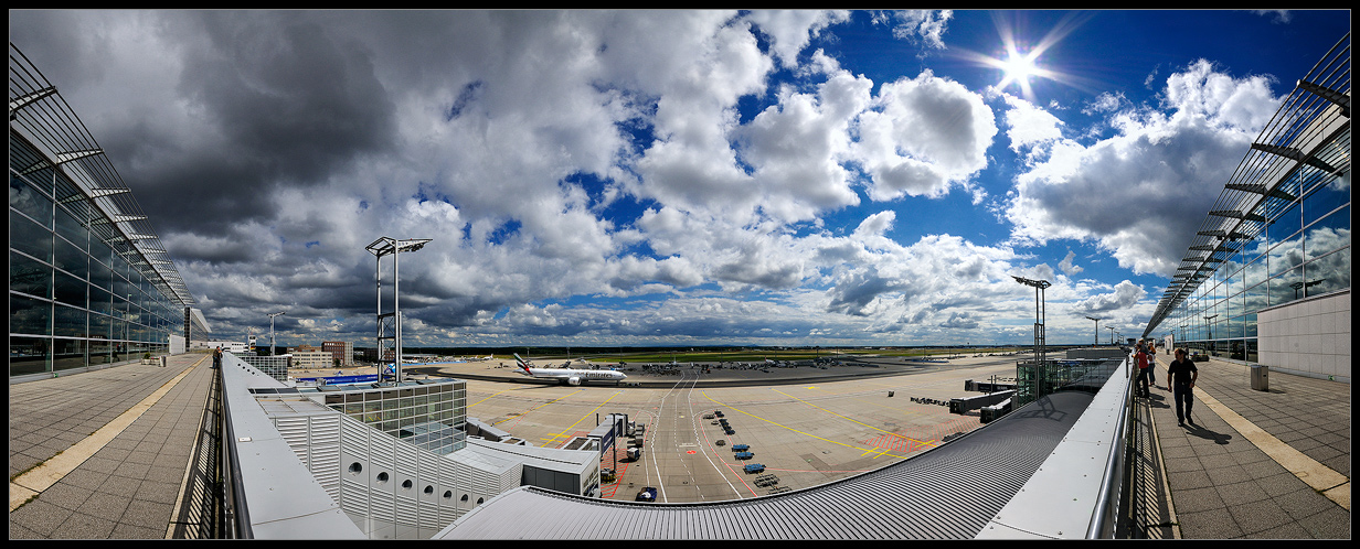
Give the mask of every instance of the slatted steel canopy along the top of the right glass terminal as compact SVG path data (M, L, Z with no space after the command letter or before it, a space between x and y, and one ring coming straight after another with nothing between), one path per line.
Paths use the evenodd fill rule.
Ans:
M1349 132L1350 33L1346 33L1297 82L1251 143L1195 232L1142 336L1148 337L1201 281L1210 279L1204 273L1216 270L1214 264L1224 261L1214 254L1236 251L1242 245L1234 241L1257 238L1278 216L1280 204L1299 201L1281 185L1297 178L1336 178L1349 173L1349 147L1333 145Z

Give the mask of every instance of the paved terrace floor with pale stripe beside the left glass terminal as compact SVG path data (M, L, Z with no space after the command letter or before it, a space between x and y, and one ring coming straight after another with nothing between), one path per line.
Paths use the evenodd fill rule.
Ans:
M11 385L10 538L175 537L211 366L189 353Z

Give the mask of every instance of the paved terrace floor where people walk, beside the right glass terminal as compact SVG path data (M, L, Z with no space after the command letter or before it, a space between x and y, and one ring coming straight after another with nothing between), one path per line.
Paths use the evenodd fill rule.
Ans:
M1350 538L1350 385L1269 372L1251 389L1244 364L1195 363L1194 425L1176 425L1157 353L1151 410L1170 491L1170 523L1186 539Z

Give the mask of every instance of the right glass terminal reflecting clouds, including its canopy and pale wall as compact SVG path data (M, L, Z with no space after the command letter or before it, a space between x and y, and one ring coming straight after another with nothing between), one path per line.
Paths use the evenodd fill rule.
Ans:
M1349 380L1350 215L1346 34L1251 144L1142 337Z

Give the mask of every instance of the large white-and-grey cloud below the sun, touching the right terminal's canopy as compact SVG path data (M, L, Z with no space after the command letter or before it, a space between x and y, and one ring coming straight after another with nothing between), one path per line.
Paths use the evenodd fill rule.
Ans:
M1054 143L1020 174L1005 213L1015 242L1095 241L1134 273L1171 276L1278 99L1263 77L1201 61L1167 79L1163 102L1110 113L1117 135Z

